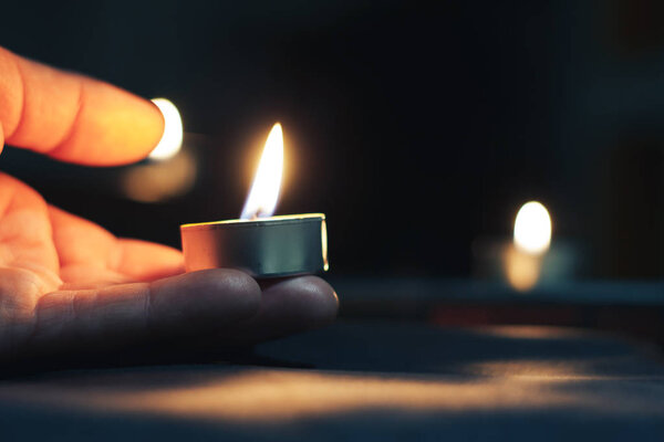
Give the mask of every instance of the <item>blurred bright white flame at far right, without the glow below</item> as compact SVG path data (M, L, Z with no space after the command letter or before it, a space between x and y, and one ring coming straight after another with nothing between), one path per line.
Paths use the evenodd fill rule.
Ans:
M543 254L551 244L551 217L540 202L525 203L515 221L515 245L526 253Z

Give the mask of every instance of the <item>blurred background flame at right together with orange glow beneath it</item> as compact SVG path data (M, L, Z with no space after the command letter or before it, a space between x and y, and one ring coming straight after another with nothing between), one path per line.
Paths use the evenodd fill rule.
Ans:
M506 250L504 256L505 274L515 290L525 292L535 287L550 245L549 211L537 201L525 203L515 220L513 245Z

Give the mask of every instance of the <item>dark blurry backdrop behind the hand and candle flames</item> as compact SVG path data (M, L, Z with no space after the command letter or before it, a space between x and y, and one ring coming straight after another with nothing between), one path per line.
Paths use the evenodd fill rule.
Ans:
M237 218L276 120L278 213L329 218L336 274L467 276L519 206L583 276L664 276L664 7L639 1L4 2L0 44L180 109L196 186L7 149L0 169L114 233L179 245Z

